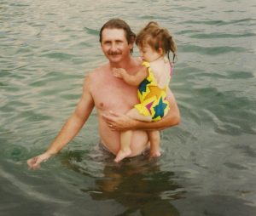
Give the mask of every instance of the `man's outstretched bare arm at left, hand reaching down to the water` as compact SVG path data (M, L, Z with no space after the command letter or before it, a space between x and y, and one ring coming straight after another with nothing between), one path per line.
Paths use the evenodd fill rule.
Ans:
M32 169L39 168L41 162L46 161L50 156L61 151L61 149L79 133L90 116L93 107L94 101L90 94L90 76L88 76L84 79L83 94L72 116L68 118L67 122L61 128L60 133L49 145L47 151L42 155L27 160L28 167Z

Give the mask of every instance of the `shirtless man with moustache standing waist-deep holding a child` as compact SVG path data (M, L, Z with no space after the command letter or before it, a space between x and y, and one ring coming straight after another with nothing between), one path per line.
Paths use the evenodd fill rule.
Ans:
M180 116L170 90L167 99L171 110L161 121L137 122L125 116L124 113L138 103L137 87L114 77L112 69L121 67L131 75L139 71L141 60L131 56L134 40L135 34L123 20L109 20L102 26L100 43L108 63L96 68L85 77L83 93L72 116L68 118L48 150L27 161L29 168L39 168L41 162L61 151L79 133L94 107L97 111L101 145L114 155L120 147L119 130L134 130L131 139L131 156L138 156L148 148L148 136L145 130L177 125Z

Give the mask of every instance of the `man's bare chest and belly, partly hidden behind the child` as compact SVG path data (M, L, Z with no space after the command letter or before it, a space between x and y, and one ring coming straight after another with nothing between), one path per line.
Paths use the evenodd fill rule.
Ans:
M141 67L139 61L131 70L138 71ZM123 80L113 77L109 65L102 65L90 74L90 94L94 99L98 121L99 133L103 145L116 154L119 151L119 132L108 128L101 114L109 111L126 113L138 103L137 87L126 84ZM144 131L134 131L131 140L131 156L141 154L148 145L148 136Z

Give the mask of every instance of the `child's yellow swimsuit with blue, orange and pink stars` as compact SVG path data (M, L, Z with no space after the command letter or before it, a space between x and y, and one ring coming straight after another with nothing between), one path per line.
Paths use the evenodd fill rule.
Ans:
M148 77L138 87L137 94L140 104L134 107L140 114L150 116L152 121L155 122L165 117L170 110L169 103L166 100L168 84L166 84L165 88L159 88L150 64L147 61L143 61L143 66L148 68Z

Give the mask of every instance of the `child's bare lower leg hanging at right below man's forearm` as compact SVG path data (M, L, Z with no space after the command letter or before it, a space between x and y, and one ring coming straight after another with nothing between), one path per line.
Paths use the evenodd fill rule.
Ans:
M161 156L160 153L160 133L158 130L148 131L148 138L150 141L150 156Z

